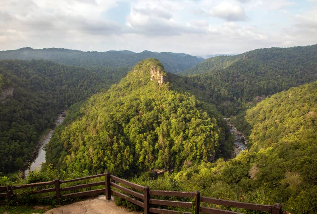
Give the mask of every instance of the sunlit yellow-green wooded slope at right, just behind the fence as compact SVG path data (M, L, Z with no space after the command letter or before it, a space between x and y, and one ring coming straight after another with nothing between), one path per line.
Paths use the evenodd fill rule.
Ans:
M198 189L221 199L278 202L291 213L316 213L317 82L266 98L247 110L245 119L252 127L249 150L228 162L184 167L159 180L140 178L140 184Z

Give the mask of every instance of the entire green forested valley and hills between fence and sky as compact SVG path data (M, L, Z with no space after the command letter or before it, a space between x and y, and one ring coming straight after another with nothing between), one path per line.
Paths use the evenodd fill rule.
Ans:
M32 60L16 60L24 52ZM76 65L50 59L65 54L57 62L69 64L71 52L0 53L13 58L0 61L0 186L19 180L43 131L68 109L46 139L41 170L21 182L108 171L154 189L314 213L317 45L198 60L182 75L174 59L114 60L109 67L101 63L105 53L86 64L92 53L78 52ZM165 173L151 173L158 169Z

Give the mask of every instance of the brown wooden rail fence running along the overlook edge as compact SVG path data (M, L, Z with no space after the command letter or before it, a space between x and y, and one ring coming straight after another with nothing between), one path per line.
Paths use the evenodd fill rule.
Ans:
M75 182L79 180L92 179L92 178L103 177L103 176L105 178L105 181L69 186L64 188L60 187L60 185L63 183ZM48 185L55 186L55 187L42 189L42 190L34 190L28 193L39 194L39 193L55 192L55 196L46 196L46 197L55 197L57 200L57 204L60 204L60 198L74 198L74 197L81 197L81 196L87 196L92 194L105 193L107 200L111 199L111 195L115 195L117 197L128 200L131 203L144 208L145 214L148 214L148 213L196 213L196 214L199 214L199 212L215 213L215 214L237 213L232 211L226 211L226 210L220 210L220 209L201 206L200 205L201 202L203 202L204 204L223 205L223 206L229 206L229 207L231 206L231 207L237 207L237 208L244 208L249 210L264 211L264 212L269 212L272 214L282 213L282 206L279 204L274 204L273 206L260 205L260 204L243 203L243 202L237 202L237 201L221 200L216 198L208 198L208 197L200 196L200 192L198 191L177 192L177 191L150 190L149 186L140 186L138 184L134 184L130 181L118 178L114 175L110 175L110 173L108 172L104 174L92 175L92 176L87 176L83 178L71 179L71 180L60 180L56 178L53 181L47 181L47 182L32 183L32 184L25 184L25 185L18 185L18 186L0 186L0 192L5 192L5 193L0 193L0 198L7 197L8 200L11 200L12 197L16 196L16 193L13 192L16 189L23 189L23 188L36 187L36 186L48 186ZM62 192L77 190L77 189L82 189L82 188L87 188L92 186L103 186L103 188L90 190L90 191L61 194ZM130 187L132 189L128 189L125 186ZM129 194L130 196L123 194L121 192L118 192L118 190L126 194ZM132 198L132 196L134 196L135 198ZM151 196L182 197L185 199L190 198L191 202L159 200L159 199L151 198ZM161 209L161 208L154 208L152 205L188 208L192 212L182 212L182 211L173 211L173 210L167 210L167 209Z

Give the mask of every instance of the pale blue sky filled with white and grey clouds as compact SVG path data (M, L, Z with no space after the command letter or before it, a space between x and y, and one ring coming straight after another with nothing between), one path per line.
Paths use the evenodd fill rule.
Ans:
M0 50L240 54L317 43L317 0L1 0Z

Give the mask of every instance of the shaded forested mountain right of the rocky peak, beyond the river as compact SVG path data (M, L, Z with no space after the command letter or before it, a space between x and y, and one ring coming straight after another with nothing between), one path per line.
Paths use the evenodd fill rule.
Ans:
M265 48L236 56L219 56L197 65L205 72L174 85L200 93L223 115L236 115L268 95L317 80L317 45ZM223 67L223 69L220 69Z

